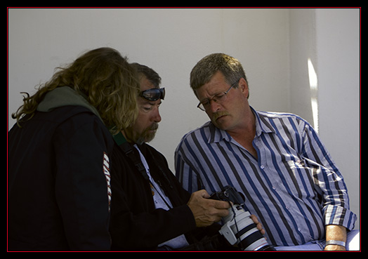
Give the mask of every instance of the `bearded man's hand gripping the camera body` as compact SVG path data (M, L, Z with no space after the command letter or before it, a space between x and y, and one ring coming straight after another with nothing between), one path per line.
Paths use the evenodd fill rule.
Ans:
M229 214L230 204L227 201L208 199L210 195L206 190L193 192L188 206L195 217L197 227L208 227Z

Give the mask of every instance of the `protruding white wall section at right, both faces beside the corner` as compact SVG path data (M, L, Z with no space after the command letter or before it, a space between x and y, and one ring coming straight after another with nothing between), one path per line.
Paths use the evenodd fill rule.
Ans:
M291 9L289 26L290 112L307 119L319 131L343 173L359 228L359 9ZM317 77L314 88L308 60ZM317 114L313 114L313 98L317 99Z

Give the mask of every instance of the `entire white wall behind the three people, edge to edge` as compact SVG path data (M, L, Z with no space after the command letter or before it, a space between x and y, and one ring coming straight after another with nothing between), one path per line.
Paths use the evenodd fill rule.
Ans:
M110 46L162 77L166 100L151 145L173 170L180 138L208 120L196 108L190 70L204 55L224 52L242 62L256 109L294 112L313 124L310 98L319 99L321 138L359 213L358 16L346 9L9 9L8 128L20 91L34 93L55 67ZM310 90L308 58L318 92Z

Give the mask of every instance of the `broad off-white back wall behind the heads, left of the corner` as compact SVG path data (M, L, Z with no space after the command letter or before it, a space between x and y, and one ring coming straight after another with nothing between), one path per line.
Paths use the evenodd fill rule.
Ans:
M53 69L82 51L117 48L131 62L155 69L166 87L162 122L152 145L173 168L173 151L207 121L189 86L204 55L225 52L244 65L256 109L289 109L287 9L11 9L9 114ZM13 120L9 115L9 126Z

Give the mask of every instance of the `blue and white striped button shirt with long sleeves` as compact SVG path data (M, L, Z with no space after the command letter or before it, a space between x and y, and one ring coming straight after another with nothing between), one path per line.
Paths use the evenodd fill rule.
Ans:
M176 176L185 190L235 187L275 246L323 239L325 225L352 230L356 215L343 176L312 126L294 114L252 111L258 160L209 121L176 149Z

